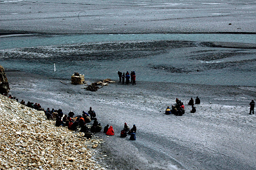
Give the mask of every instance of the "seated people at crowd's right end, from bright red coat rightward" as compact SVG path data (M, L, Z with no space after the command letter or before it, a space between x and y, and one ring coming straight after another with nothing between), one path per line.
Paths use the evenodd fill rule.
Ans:
M135 126L135 124L133 125L133 128L130 130L127 123L124 123L124 128L121 131L120 137L127 137L127 134L129 134L130 140L136 140L136 131L137 131L137 127ZM112 126L109 127L108 124L104 127L104 133L106 133L106 135L108 135L108 136L115 135L115 131L114 131L113 127Z

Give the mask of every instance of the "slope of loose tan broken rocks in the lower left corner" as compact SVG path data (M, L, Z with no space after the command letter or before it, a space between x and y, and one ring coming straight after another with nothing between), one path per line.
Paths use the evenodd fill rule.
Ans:
M44 113L3 95L0 119L1 170L105 170L90 149L102 139L89 140L83 133L56 127Z

